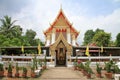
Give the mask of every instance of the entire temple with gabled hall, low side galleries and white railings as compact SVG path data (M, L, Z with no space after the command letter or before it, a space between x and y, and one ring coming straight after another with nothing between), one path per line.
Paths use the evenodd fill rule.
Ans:
M104 62L110 59L114 61L120 60L120 47L100 47L95 44L88 46L79 46L77 41L79 31L77 31L72 23L65 16L62 8L59 10L58 15L52 24L44 31L45 35L45 46L40 46L39 48L41 54L38 53L38 46L24 46L25 50L34 50L33 53L37 56L37 59L41 61L47 61L47 66L66 66L72 67L73 62L79 59L83 62L90 60L92 62ZM89 47L89 50L87 48ZM8 56L3 50L9 51ZM2 56L0 61L21 61L26 65L26 63L31 63L34 56L27 53L21 52L21 46L13 47L0 47ZM18 51L17 51L18 50ZM89 55L86 55L86 52ZM13 56L15 53L15 56ZM23 64L22 63L22 64Z

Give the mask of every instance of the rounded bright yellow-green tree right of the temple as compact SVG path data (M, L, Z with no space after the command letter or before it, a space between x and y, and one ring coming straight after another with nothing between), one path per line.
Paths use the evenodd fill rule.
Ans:
M97 46L108 46L110 43L110 39L110 33L98 31L93 37L93 42L95 42Z

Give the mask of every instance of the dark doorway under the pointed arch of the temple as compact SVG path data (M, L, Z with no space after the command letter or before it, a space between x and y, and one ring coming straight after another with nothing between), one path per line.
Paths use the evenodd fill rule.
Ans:
M56 48L56 66L66 66L66 47L62 42Z

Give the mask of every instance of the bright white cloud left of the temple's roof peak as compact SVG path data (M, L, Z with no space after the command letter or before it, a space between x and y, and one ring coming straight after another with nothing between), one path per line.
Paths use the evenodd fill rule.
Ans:
M47 4L48 2L49 4ZM14 14L13 17L18 20L17 23L21 25L24 32L26 29L33 29L37 32L37 37L45 40L43 31L50 26L49 22L52 22L56 17L60 8L59 2L57 0L37 0L31 3L32 5L22 8L20 13Z

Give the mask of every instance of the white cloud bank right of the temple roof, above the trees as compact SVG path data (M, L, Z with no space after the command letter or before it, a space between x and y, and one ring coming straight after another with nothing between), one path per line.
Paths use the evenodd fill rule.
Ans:
M112 34L112 39L115 40L116 35L120 32L120 8L114 10L111 14L95 17L86 16L72 16L71 20L74 21L74 26L76 29L80 30L79 42L83 41L84 33L88 29L104 29L106 32Z

